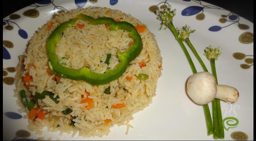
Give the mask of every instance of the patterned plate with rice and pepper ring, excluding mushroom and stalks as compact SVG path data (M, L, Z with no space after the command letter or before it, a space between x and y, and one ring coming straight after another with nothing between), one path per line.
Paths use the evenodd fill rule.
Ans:
M207 68L204 49L222 48L218 82L240 94L220 103L223 119L236 119L223 120L224 139L253 140L253 23L168 0L43 0L3 18L3 140L212 140L186 94L188 61L170 29L159 30L156 12L169 5L176 27L196 29L190 40Z

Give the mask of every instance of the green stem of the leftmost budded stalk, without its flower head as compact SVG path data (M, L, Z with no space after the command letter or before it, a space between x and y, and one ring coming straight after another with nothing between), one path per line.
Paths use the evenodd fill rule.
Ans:
M172 24L172 22L170 22L168 24L168 27L171 28L172 30L172 33L174 34L176 40L178 41L178 43L180 44L180 47L182 48L184 54L186 55L187 59L188 59L188 63L191 67L191 70L193 72L193 74L197 73L196 71L196 67L188 53L188 50L186 49L183 41L181 40L181 38L178 38L178 32L177 30L175 29L174 25ZM206 105L203 105L203 108L204 108L204 116L205 116L205 121L206 121L206 126L207 126L207 135L211 135L213 134L213 127L212 127L212 117L211 117L211 113L210 113L210 109L209 109L209 106L208 104Z

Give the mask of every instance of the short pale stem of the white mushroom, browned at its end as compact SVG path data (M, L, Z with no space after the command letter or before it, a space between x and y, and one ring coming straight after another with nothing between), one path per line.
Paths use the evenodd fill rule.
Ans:
M235 103L239 97L236 88L227 85L217 85L217 93L215 98L225 102Z

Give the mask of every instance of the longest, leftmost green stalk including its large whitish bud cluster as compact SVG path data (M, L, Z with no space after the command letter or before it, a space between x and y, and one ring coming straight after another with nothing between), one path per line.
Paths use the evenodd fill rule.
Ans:
M161 9L160 11L158 10L156 12L158 19L162 21L162 24L161 24L161 27L159 30L161 30L163 25L165 25L166 27L169 27L172 30L172 33L176 37L176 40L180 44L181 49L183 50L185 56L188 59L188 63L191 67L193 74L195 74L195 73L197 73L196 67L195 67L182 39L179 37L179 33L177 32L177 30L175 29L175 27L172 23L172 18L175 16L175 11L176 11L176 9L171 11L171 5L169 5L168 8L164 8L164 9ZM211 113L210 113L208 104L203 105L203 109L204 109L205 121L206 121L206 126L207 126L207 134L209 136L209 135L213 134L213 127L212 127Z

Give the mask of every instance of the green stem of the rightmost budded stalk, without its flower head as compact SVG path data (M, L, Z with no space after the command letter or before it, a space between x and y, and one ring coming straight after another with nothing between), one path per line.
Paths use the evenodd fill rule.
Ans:
M211 60L211 67L212 67L212 75L215 77L216 83L218 84L216 67L215 67L215 59L213 58L210 60ZM222 126L222 114L221 114L221 107L220 107L220 99L216 99L216 106L217 106L217 114L218 114L219 136L220 136L220 139L223 139L224 138L224 128Z

